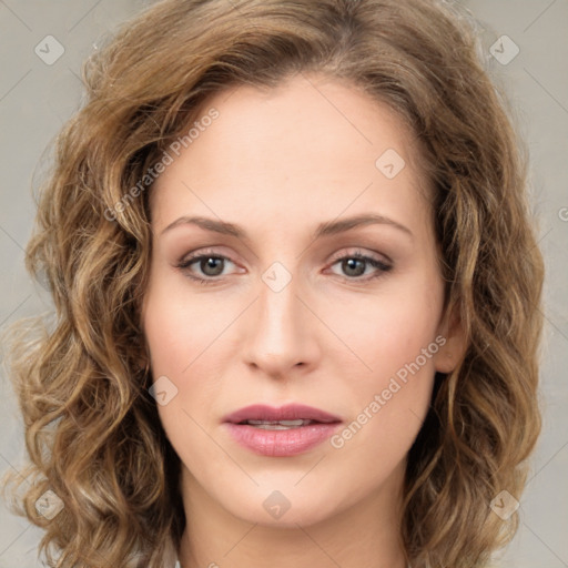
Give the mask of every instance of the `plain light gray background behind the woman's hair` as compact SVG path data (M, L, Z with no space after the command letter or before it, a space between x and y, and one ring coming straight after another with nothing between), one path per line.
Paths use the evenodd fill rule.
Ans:
M49 307L23 267L34 216L32 173L81 100L81 62L102 34L145 6L144 0L0 0L0 327ZM531 156L531 195L546 256L542 345L544 434L520 503L521 526L501 567L568 567L568 0L463 0L479 22L495 81L514 104ZM64 47L45 64L34 52L47 36ZM489 48L501 36L519 47L503 65ZM20 468L21 418L6 373L0 376L0 471ZM0 505L0 568L41 566L41 531Z

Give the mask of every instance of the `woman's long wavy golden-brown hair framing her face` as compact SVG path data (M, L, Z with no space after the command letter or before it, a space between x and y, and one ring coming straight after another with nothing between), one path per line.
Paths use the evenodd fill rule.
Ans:
M517 515L504 523L489 504L503 489L519 498L540 430L544 266L527 151L471 18L436 0L163 0L85 62L87 98L55 140L26 253L53 317L10 333L31 481L12 507L44 529L52 566L158 568L178 547L180 459L148 393L140 325L148 171L211 94L307 72L362 88L419 141L446 314L467 336L408 455L408 561L485 566L515 534ZM64 506L51 520L36 510L48 489Z

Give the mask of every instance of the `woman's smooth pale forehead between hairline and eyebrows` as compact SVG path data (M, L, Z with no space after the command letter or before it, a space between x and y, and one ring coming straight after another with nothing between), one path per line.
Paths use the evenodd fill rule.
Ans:
M215 120L200 120L212 110ZM427 195L414 133L386 104L335 79L233 87L211 97L192 126L191 143L154 184L160 217L190 203L222 217L230 205L304 215L327 205L329 216L349 203L349 213L379 202L420 206Z

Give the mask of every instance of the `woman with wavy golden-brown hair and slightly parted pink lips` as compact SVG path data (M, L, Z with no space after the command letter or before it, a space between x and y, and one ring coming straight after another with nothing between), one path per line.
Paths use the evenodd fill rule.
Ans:
M13 359L52 565L487 566L542 261L469 26L165 0L84 77L27 251L58 320Z

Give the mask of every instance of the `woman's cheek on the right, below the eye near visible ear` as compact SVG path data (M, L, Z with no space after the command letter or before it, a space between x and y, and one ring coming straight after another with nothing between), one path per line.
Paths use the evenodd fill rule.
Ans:
M393 443L393 447L417 434L430 402L443 286L428 282L429 286L417 276L388 294L353 303L348 317L346 311L336 313L332 324L343 321L342 337L358 359L357 372L353 372L353 357L352 372L339 372L348 377L342 392L351 418L358 425L368 423L367 434L378 433L383 444Z

